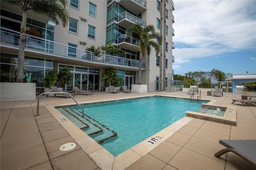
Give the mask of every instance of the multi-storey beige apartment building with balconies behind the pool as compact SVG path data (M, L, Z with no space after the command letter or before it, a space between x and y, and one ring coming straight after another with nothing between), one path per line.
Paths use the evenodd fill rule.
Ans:
M163 36L160 55L156 56L152 49L150 55L142 58L141 83L148 85L148 91L168 88L157 80L171 80L174 72L172 0L70 0L67 10L70 20L66 28L45 16L28 13L27 25L38 28L41 35L26 35L24 77L26 82L36 83L37 92L44 90L41 83L46 73L64 66L73 75L64 87L66 91L74 86L101 91L105 86L102 73L110 67L117 70L122 85L131 89L131 84L138 82L139 48L138 40L128 37L126 30L134 23L152 24ZM1 1L0 15L1 82L13 82L22 11ZM120 47L125 56L120 53L96 56L90 51L91 45L100 47L109 43Z

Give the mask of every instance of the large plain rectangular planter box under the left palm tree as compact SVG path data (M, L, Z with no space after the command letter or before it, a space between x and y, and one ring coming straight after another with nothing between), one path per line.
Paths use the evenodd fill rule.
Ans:
M1 102L36 100L36 83L6 83L1 85Z

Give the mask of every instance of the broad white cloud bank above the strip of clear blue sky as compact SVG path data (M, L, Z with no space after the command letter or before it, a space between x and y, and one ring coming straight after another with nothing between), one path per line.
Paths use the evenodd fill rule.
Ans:
M255 49L256 1L174 0L175 62Z

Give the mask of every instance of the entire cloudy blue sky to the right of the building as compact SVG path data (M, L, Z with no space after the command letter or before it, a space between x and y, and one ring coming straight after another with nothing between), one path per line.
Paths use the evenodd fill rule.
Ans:
M256 73L256 0L174 0L174 74Z

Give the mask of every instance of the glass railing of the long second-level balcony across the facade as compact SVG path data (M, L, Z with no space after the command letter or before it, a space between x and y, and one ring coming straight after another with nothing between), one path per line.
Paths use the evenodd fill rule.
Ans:
M1 28L1 45L8 44L10 46L19 46L20 33L9 30L6 28ZM109 63L111 65L122 65L129 67L139 66L138 60L126 59L118 56L100 54L95 56L94 53L79 49L75 47L70 47L65 44L53 42L50 40L45 40L42 38L35 38L34 36L26 35L25 49L34 49L34 52L45 52L48 55L62 55L70 58L77 58L86 61ZM142 61L142 68L146 68L146 63Z

